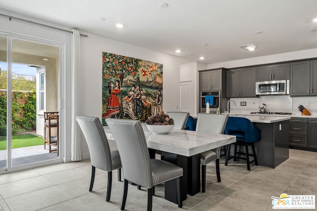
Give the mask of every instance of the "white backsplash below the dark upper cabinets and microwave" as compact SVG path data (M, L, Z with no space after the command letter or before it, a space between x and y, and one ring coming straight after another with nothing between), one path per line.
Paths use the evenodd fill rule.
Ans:
M317 97L315 96L263 95L260 97L230 99L237 104L237 106L234 106L230 102L230 113L248 114L250 112L259 112L259 107L262 107L264 103L267 112L290 112L293 115L301 115L297 108L301 104L312 113L312 116L317 116ZM241 102L246 102L246 106L241 106Z

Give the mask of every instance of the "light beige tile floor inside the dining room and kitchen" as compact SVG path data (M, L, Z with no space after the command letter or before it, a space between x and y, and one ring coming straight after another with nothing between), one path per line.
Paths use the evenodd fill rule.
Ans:
M207 168L206 193L188 196L182 210L270 211L271 196L316 195L317 153L290 149L290 158L275 169L220 161L221 182L216 182L214 162ZM0 211L118 211L123 182L113 172L110 202L106 202L106 172L96 171L89 192L89 160L56 164L0 175ZM164 200L164 186L156 186L154 211L181 210ZM147 207L147 191L129 186L128 211Z

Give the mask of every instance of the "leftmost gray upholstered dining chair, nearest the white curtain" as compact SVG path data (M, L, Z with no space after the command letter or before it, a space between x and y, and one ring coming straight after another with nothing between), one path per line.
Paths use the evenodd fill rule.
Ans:
M93 190L96 168L108 172L106 201L110 200L112 185L112 170L118 170L118 180L121 181L121 160L117 149L111 150L105 130L98 117L76 116L76 120L84 133L90 153L92 165L89 191Z

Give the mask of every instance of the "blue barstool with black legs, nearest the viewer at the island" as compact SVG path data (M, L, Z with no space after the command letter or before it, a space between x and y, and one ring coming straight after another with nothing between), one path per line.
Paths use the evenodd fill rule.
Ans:
M258 166L257 154L254 147L254 142L261 140L261 130L255 127L250 120L244 117L228 117L228 121L226 127L224 129L224 134L235 135L237 138L237 142L234 143L234 155L230 156L230 147L231 144L228 145L228 153L226 155L225 166L228 165L228 160L232 159L236 161L236 159L242 159L247 161L248 170L250 170L250 164L255 163ZM245 146L246 152L237 152L237 145ZM249 146L252 147L252 153L249 153ZM245 155L246 157L239 157L239 155ZM250 161L249 156L252 156L254 159Z

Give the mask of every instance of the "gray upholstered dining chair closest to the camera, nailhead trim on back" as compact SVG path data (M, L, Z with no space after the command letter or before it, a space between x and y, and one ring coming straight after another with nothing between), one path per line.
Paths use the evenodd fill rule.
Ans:
M177 203L181 208L179 177L183 175L183 169L166 161L150 159L140 121L108 118L106 123L117 144L124 172L120 209L124 210L125 207L129 181L148 189L148 211L151 211L153 187L172 179L176 179Z

